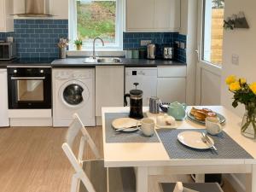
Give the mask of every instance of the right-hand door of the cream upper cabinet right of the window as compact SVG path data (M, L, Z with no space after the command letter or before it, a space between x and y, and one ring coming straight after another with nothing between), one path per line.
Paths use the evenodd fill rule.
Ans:
M154 28L176 31L180 28L180 0L154 1Z

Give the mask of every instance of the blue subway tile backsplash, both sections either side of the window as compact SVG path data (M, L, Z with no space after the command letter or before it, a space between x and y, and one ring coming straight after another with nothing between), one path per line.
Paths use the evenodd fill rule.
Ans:
M0 40L14 37L20 61L52 61L59 57L57 43L68 38L68 20L15 20L15 32L1 33ZM186 44L186 36L178 32L124 32L124 49L139 49L141 40L160 46ZM186 62L186 49L175 49L175 59Z

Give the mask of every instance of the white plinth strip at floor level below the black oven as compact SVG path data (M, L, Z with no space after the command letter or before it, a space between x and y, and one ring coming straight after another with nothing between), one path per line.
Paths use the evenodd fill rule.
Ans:
M52 118L11 118L10 126L52 126Z

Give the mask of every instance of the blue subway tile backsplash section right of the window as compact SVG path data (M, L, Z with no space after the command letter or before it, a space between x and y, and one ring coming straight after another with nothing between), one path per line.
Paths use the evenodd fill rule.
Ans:
M123 47L124 49L139 49L141 48L142 40L151 40L152 44L160 46L175 47L175 42L187 43L187 36L181 35L178 32L124 32ZM175 48L175 59L177 61L186 62L186 49Z

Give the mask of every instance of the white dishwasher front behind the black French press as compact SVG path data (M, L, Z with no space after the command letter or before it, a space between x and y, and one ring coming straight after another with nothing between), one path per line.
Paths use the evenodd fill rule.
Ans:
M148 106L148 98L157 96L157 68L126 68L125 93L135 90L135 83L137 90L143 90L143 106Z

